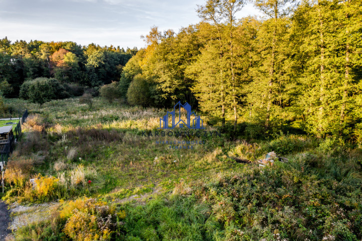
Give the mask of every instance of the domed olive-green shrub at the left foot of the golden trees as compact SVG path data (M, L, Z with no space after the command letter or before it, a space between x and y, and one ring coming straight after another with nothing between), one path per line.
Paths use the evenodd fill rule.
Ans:
M127 101L130 105L149 106L150 103L150 87L148 81L138 74L134 77L127 91Z

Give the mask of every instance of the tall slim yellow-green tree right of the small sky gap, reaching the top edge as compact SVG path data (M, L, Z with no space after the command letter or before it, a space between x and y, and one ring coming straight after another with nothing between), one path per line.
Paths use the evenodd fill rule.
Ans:
M252 93L257 99L249 98L257 103L257 111L265 113L265 127L270 126L271 114L274 118L283 105L283 93L288 76L284 69L284 62L288 55L287 33L289 4L292 0L255 0L255 6L264 12L269 19L263 22L257 34L258 66L252 70L254 75L253 86L256 92ZM259 100L258 100L259 99ZM279 100L279 101L278 101ZM265 110L264 110L265 109Z

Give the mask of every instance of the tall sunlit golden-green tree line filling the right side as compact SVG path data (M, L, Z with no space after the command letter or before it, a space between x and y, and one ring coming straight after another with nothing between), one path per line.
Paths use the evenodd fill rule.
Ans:
M143 105L186 100L234 130L247 121L262 133L289 125L361 140L361 1L253 3L266 17L236 19L244 0L207 0L198 24L152 27L123 69L121 94L143 79Z

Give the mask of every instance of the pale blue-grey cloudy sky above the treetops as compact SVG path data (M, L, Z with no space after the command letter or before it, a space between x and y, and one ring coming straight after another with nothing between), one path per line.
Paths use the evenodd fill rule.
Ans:
M0 0L0 38L145 46L151 26L173 29L200 21L205 0ZM262 15L251 3L238 17Z

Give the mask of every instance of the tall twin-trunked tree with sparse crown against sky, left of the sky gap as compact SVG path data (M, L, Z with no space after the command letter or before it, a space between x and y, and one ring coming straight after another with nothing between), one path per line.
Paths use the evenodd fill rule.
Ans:
M238 122L238 99L240 96L241 79L236 74L236 13L245 5L245 0L207 0L205 5L199 5L197 12L199 16L212 25L206 25L209 28L215 28L216 38L211 35L209 41L215 44L215 47L207 49L216 49L219 51L219 78L216 84L220 88L221 96L221 116L222 125L225 124L225 109L232 109L234 114L234 130ZM214 39L217 39L215 41ZM216 47L217 46L217 47ZM213 86L216 86L215 84ZM199 85L197 85L199 86ZM197 88L197 87L196 87ZM194 88L194 91L198 91Z

